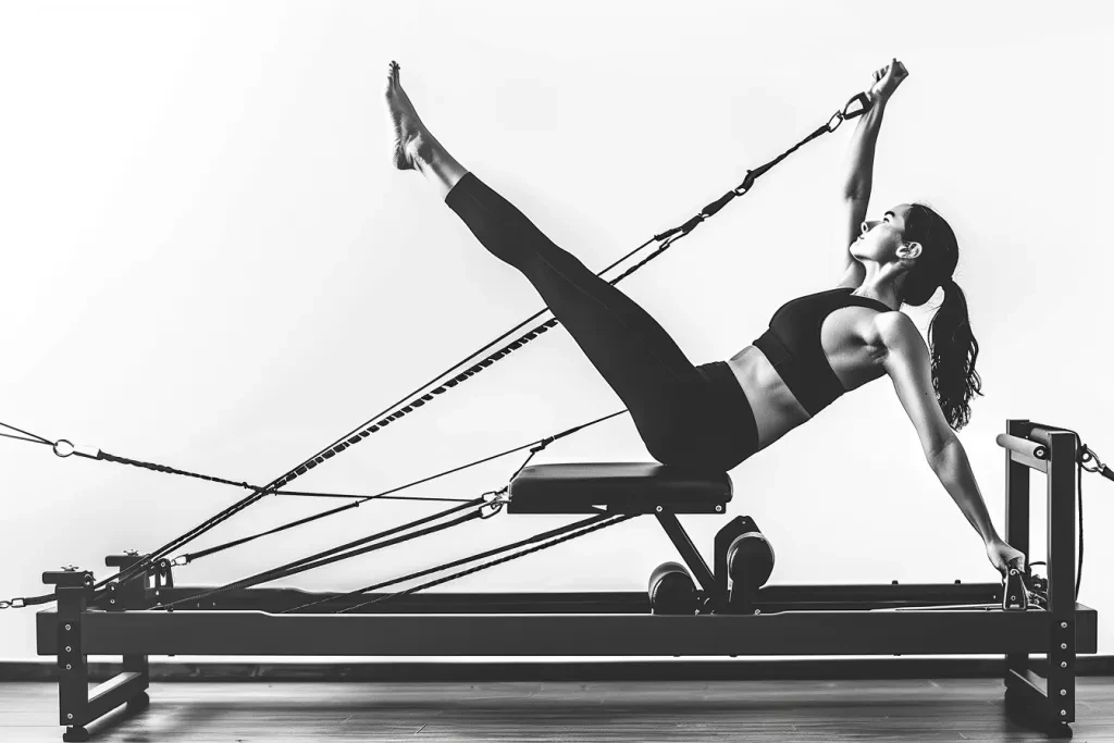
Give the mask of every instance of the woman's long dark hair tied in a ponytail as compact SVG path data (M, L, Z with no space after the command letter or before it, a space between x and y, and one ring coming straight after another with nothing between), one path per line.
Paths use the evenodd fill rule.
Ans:
M975 371L978 341L971 333L967 297L951 278L959 244L944 217L926 204L912 204L905 222L905 241L920 243L921 254L906 275L902 301L920 306L937 289L944 290L944 302L928 326L928 345L936 399L948 424L958 431L970 421L971 398L983 394L983 380Z

